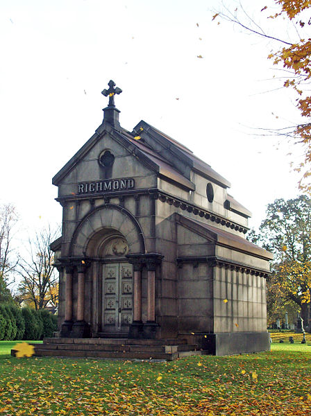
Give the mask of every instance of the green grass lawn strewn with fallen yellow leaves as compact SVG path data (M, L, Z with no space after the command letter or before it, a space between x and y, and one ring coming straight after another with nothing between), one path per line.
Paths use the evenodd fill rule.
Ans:
M15 358L2 351L1 416L311 415L311 346L299 342L170 363Z

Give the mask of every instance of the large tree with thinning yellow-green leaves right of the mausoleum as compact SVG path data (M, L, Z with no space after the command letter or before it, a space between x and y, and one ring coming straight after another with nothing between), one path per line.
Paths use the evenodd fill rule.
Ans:
M276 307L276 297L278 306L294 302L306 326L311 296L311 198L277 199L269 204L267 218L251 240L274 253L268 306L270 302Z

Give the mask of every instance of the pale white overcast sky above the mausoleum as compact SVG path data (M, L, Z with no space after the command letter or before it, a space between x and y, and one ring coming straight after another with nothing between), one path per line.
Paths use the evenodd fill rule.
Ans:
M260 13L266 3L245 7L287 36ZM60 223L51 179L101 124L110 79L123 89L115 99L121 125L132 130L143 119L185 144L231 182L229 193L253 212L251 226L269 202L298 194L292 149L255 130L298 116L295 97L272 79L280 74L267 55L279 45L212 21L220 7L210 0L1 1L0 202L17 207L26 229Z

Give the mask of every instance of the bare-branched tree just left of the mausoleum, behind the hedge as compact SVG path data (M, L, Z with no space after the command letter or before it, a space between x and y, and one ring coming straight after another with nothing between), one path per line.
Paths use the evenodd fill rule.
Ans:
M19 300L44 309L49 302L58 302L58 276L53 267L54 254L51 243L57 238L58 229L52 231L50 227L35 233L35 238L28 241L29 260L19 261Z

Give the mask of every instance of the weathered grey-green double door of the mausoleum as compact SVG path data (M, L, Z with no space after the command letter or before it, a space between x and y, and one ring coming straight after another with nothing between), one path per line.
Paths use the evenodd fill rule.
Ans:
M106 333L128 333L133 322L133 266L103 264L103 328Z

